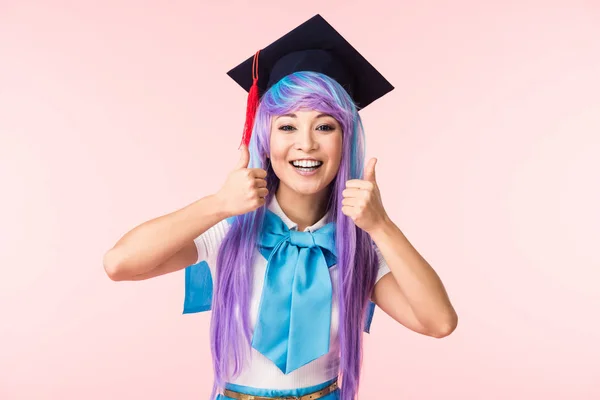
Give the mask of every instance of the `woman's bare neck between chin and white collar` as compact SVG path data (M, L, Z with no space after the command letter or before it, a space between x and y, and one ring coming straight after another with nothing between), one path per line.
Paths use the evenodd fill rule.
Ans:
M302 195L279 185L277 189L277 202L281 210L298 225L298 231L303 231L307 226L314 225L327 212L327 199L329 190L319 193Z

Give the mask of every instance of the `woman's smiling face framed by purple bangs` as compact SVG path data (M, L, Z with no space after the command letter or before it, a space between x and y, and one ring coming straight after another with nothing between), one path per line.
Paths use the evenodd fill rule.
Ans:
M313 110L274 116L270 148L279 190L318 194L338 172L342 127L332 116Z

